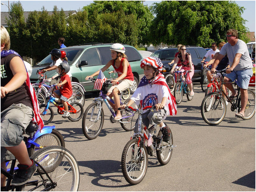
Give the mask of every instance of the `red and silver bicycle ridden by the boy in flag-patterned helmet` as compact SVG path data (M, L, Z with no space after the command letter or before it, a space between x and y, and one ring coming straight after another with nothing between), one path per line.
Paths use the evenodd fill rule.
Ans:
M155 135L157 125L149 128L142 126L143 110L151 110L152 108L153 106L146 106L143 109L134 109L131 106L126 106L124 109L127 112L132 110L139 113L134 134L125 145L121 159L124 178L132 185L140 183L145 177L148 155L153 156L153 153L156 153L156 157L161 165L166 165L172 156L174 148L172 132L170 133L171 140L164 142L161 130Z

